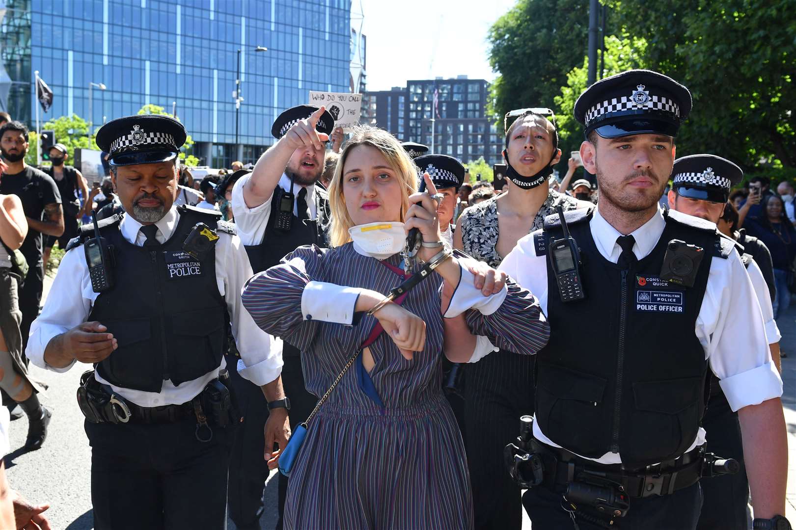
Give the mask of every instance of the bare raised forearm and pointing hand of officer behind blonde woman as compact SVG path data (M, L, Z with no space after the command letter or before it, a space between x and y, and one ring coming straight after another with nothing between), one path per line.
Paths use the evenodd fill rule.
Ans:
M298 120L282 138L279 138L279 142L276 142L259 158L252 170L252 176L244 185L244 201L248 208L256 208L268 201L279 184L279 178L282 177L287 162L290 161L295 150L306 148L312 151L322 151L326 149L325 143L329 139L329 135L315 130L318 119L325 111L326 107L321 107L314 111L309 118Z

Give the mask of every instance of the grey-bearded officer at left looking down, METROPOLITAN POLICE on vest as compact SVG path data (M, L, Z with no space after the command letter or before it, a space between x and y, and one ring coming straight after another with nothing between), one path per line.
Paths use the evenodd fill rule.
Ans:
M92 446L94 524L225 528L232 426L224 384L226 322L241 375L283 399L279 344L252 322L240 290L252 275L233 225L174 206L185 128L161 115L115 119L97 132L110 153L122 216L81 228L33 323L27 354L81 378ZM266 435L287 443L287 414ZM269 440L269 441L270 441Z

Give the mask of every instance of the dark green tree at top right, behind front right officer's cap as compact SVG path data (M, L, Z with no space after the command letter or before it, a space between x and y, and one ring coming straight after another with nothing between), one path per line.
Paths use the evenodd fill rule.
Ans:
M745 170L796 166L793 0L608 5L623 33L647 37L646 64L693 94L678 156L720 154Z

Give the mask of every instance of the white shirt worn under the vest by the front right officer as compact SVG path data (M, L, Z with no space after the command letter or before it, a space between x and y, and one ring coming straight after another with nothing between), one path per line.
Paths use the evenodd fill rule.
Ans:
M664 227L665 220L659 209L646 224L632 232L636 241L633 252L638 259L650 254L660 240ZM595 208L589 228L599 253L612 263L617 263L622 248L616 244L616 239L622 234L599 214L599 205ZM546 254L537 256L533 234L529 234L517 242L517 246L499 267L536 295L544 312L547 312L549 295L547 259ZM552 295L556 296L555 293ZM696 317L696 337L704 348L712 372L720 379L724 396L733 411L782 396L782 379L771 362L767 347L763 312L737 251L732 251L728 259L714 257L711 261L708 285L700 313ZM492 349L494 347L488 341L479 337L473 358L483 357ZM536 421L533 423L533 436L550 446L561 447L544 435ZM689 450L701 445L704 440L705 432L700 427ZM600 458L588 459L601 464L622 462L618 453L606 453Z

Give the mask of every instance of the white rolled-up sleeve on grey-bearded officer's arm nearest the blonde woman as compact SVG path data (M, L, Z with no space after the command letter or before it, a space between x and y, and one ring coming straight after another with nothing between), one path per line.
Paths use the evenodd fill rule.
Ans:
M240 352L238 373L257 386L271 383L282 373L282 341L259 329L243 306L240 291L252 276L252 266L238 236L220 238L216 271L224 286L232 337Z

